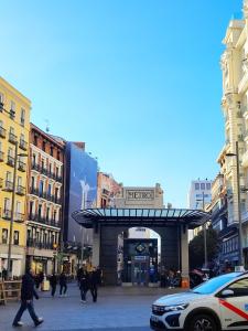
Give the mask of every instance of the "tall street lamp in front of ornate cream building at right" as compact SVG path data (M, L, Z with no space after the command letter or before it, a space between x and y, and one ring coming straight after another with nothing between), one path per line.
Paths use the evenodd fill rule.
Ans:
M239 236L239 266L244 266L242 256L242 223L241 223L241 210L240 210L240 177L239 177L239 151L238 141L236 141L236 153L226 153L226 157L236 157L236 168L237 168L237 197L238 197L238 236Z

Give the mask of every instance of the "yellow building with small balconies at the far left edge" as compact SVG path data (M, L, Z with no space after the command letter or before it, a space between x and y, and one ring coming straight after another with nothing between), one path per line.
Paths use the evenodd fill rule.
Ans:
M22 275L25 267L26 157L30 110L31 102L0 77L0 271L8 267L10 221L12 199L14 197L11 276Z

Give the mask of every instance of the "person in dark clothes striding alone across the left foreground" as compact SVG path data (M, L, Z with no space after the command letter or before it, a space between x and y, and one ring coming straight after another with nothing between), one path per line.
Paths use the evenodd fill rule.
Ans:
M21 317L26 309L29 310L35 327L43 323L44 320L39 318L34 311L33 297L35 297L36 300L39 299L39 296L34 289L33 271L31 268L28 268L25 275L22 277L21 307L13 320L13 327L23 325L21 322Z

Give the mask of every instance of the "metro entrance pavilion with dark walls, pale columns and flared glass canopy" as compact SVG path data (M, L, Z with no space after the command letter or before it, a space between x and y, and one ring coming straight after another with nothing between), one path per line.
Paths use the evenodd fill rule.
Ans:
M94 266L100 266L105 284L116 285L117 253L121 246L118 236L128 233L131 227L155 231L161 238L160 268L181 270L182 279L187 279L187 229L203 225L211 214L183 209L87 209L76 211L72 216L83 227L94 229L91 263ZM140 244L144 243L140 241ZM141 257L147 258L142 254ZM136 275L137 268L139 273L144 273L145 269L149 274L149 268L157 268L153 259L150 256L145 259L147 265L139 268L137 260L123 260L123 275Z

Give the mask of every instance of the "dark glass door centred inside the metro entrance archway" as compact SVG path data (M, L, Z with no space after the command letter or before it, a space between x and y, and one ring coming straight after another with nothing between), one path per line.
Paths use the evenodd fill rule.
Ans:
M144 256L144 260L136 260L136 256L132 260L131 268L131 281L132 285L147 286L149 282L149 260Z

